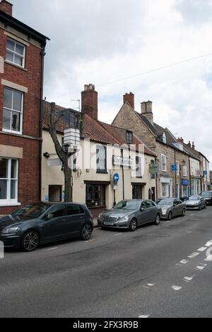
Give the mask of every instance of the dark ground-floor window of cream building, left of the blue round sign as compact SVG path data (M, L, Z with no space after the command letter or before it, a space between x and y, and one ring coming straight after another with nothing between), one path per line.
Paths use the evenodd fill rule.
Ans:
M89 208L105 206L105 185L87 184L86 204Z

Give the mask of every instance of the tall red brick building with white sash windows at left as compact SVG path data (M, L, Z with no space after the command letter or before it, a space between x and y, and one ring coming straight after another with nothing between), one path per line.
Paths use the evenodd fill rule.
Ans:
M0 2L0 214L40 200L47 37Z

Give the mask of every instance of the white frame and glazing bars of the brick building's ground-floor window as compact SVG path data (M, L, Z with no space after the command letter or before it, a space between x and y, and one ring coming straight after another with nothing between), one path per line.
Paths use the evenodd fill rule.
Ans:
M1 159L8 160L7 177L0 177L0 180L6 180L6 199L0 199L0 206L18 204L18 166L19 162L16 158L1 157ZM11 178L12 160L16 160L16 178ZM16 198L11 199L11 182L16 181Z

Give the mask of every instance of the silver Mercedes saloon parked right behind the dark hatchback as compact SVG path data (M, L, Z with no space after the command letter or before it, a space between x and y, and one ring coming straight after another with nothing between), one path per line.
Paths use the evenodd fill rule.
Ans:
M102 228L126 228L136 231L145 223L159 225L162 211L153 201L130 199L120 201L113 209L98 216L98 226Z

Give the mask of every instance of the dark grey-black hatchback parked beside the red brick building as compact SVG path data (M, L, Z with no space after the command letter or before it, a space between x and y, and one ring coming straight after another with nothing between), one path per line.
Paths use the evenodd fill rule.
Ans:
M57 240L89 240L92 232L93 217L84 204L37 203L0 218L0 241L26 252Z

